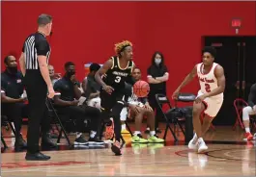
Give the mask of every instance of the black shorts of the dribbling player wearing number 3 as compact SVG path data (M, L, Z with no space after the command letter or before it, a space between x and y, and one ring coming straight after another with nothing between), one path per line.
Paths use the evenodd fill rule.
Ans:
M118 101L125 101L125 93L113 91L108 94L105 90L100 89L100 107L105 110L111 110Z

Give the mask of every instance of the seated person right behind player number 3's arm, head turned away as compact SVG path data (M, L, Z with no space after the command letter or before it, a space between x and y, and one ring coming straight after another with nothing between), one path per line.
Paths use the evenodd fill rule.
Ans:
M100 110L100 85L95 80L95 74L100 69L100 64L92 63L89 69L90 72L83 80L82 88L88 106L96 107Z

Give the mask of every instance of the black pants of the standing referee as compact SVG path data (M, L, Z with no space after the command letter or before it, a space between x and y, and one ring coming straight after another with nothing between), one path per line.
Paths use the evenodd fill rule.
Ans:
M27 151L36 153L39 152L41 131L46 134L50 129L46 107L47 86L40 70L26 70L24 84L29 102Z

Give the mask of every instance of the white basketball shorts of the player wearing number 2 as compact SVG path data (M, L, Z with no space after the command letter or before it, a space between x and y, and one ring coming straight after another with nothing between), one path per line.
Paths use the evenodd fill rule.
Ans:
M199 90L197 97L201 96L202 94L203 94L203 92L201 90ZM203 101L203 103L206 106L204 113L211 117L215 117L222 106L223 97L222 96L218 97L218 98L208 97Z

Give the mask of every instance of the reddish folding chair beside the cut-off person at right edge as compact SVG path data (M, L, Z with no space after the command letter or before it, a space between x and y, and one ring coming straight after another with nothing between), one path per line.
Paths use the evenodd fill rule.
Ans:
M234 101L234 107L235 107L235 110L236 110L236 113L237 113L237 119L236 119L235 125L233 126L233 130L235 130L235 128L237 126L240 126L242 129L244 129L241 114L242 114L242 109L246 106L248 106L248 104L242 98L237 98Z

